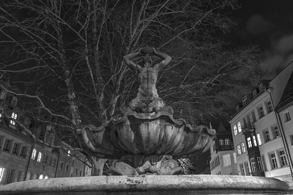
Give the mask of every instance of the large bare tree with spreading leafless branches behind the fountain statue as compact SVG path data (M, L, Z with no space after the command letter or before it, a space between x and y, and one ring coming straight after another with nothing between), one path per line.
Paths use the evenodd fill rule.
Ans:
M158 78L159 96L174 117L196 125L223 114L261 70L255 47L231 49L225 41L233 25L227 11L236 8L234 0L4 0L0 86L38 101L74 137L135 97L136 75L122 58L150 46L173 59Z

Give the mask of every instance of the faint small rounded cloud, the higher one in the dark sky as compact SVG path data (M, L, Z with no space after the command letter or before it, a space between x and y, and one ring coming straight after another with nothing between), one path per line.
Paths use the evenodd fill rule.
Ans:
M273 25L261 15L252 15L246 23L246 29L251 34L262 34L270 31Z

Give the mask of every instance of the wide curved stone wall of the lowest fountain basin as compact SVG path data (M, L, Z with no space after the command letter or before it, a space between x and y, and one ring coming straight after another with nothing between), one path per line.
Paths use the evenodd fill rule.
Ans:
M0 187L0 195L289 195L293 183L255 176L91 176L37 179Z

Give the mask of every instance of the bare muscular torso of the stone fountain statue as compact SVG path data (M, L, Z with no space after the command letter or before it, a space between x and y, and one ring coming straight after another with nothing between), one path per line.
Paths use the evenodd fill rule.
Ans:
M137 98L158 98L156 82L158 71L153 67L140 68L138 73L139 89Z

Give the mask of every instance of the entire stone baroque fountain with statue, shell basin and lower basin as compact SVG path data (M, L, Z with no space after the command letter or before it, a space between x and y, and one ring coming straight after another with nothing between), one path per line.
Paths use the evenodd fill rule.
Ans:
M162 59L153 65L150 55ZM143 56L142 65L131 59ZM141 48L124 57L138 74L137 97L100 127L85 125L77 132L90 156L118 159L111 176L50 178L22 181L0 188L1 195L175 195L293 194L293 184L255 176L182 175L175 159L200 155L216 132L207 126L192 128L173 118L156 90L159 71L171 58L154 48Z

